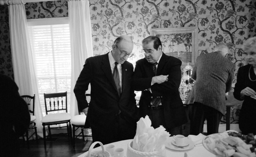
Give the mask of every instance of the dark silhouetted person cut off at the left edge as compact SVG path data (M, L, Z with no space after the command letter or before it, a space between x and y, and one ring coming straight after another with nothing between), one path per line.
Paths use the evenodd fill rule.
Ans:
M19 137L29 127L30 115L19 88L8 76L0 74L0 154L18 156Z

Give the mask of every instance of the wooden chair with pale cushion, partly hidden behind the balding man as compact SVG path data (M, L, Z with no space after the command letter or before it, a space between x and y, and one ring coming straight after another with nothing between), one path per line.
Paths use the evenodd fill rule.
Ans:
M88 104L90 104L91 94L85 94L86 100ZM70 122L73 127L73 148L75 149L75 138L76 137L92 137L91 135L84 135L83 129L90 129L89 124L85 124L86 115L83 112L80 112L79 106L78 106L78 114L71 118ZM77 128L76 128L77 127ZM77 129L81 128L81 132L78 135L75 135L75 132ZM82 134L82 135L81 135Z

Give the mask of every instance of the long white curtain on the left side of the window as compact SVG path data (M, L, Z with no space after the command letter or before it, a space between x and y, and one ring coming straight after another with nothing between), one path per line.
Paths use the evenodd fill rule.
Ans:
M8 0L10 41L12 50L13 73L20 95L35 94L35 116L38 136L42 135L42 109L40 105L32 51L26 21L26 12L22 0ZM33 131L33 129L32 129Z

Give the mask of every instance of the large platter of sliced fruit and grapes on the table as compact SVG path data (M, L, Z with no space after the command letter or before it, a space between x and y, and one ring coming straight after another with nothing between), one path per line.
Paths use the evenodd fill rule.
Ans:
M256 157L255 143L254 134L235 131L211 134L202 140L205 149L219 157Z

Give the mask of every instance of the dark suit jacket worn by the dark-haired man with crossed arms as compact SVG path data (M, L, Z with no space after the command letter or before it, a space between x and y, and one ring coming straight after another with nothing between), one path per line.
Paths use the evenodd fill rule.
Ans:
M132 77L134 90L142 91L139 102L140 116L144 117L150 112L151 96L162 96L161 103L164 107L166 125L172 129L187 122L187 117L182 100L179 96L179 84L181 80L181 61L175 57L167 56L163 53L157 67L157 76L169 75L168 81L151 86L154 76L151 63L143 58L136 62L136 67ZM152 94L145 89L151 88Z

